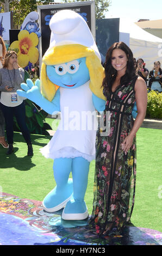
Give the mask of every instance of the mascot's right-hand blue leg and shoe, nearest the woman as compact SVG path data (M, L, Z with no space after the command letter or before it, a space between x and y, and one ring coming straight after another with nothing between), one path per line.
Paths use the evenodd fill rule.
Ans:
M64 208L64 220L84 220L88 217L84 196L88 185L89 165L90 162L83 157L72 160L73 197Z

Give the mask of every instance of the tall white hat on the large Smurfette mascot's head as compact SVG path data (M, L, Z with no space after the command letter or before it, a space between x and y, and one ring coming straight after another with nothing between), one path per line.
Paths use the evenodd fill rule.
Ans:
M101 60L91 31L81 15L72 10L61 10L52 16L49 22L51 39L49 49L60 46L79 44L91 48Z

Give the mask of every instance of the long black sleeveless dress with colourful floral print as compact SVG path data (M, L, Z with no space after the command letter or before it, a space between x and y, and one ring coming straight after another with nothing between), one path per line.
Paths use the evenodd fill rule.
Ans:
M130 220L134 206L136 176L136 142L125 154L122 142L133 127L132 109L135 102L134 84L119 86L107 96L106 112L110 111L110 133L102 129L96 137L96 169L94 208L89 225L98 235L120 235Z

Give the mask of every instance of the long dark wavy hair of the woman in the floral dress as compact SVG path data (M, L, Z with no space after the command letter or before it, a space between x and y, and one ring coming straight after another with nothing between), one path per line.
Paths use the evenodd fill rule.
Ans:
M108 49L108 52L105 58L105 63L104 63L105 77L103 79L102 86L103 86L103 92L105 96L107 95L108 92L111 92L111 87L113 86L113 83L115 82L115 79L117 76L116 69L114 69L113 66L111 65L111 56L112 56L113 50L115 49L120 49L124 51L128 58L126 73L121 77L120 84L121 85L128 84L135 76L132 51L126 44L124 44L124 42L115 42Z

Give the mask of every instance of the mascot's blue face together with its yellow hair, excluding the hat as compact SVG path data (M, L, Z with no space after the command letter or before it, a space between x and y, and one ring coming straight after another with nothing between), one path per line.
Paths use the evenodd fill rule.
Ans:
M94 49L80 44L52 45L42 58L41 93L52 101L59 87L76 88L90 80L90 90L105 100L103 77L104 68Z

